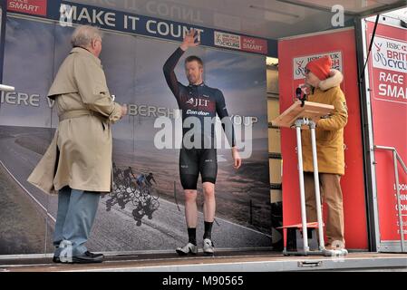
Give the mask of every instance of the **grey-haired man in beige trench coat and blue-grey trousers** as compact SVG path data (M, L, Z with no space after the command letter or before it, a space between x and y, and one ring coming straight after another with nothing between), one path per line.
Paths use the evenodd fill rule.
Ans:
M53 235L55 263L102 262L88 240L101 192L111 191L111 124L127 113L113 102L99 55L102 33L79 26L73 50L55 76L48 98L59 116L58 130L28 181L45 192L58 191Z

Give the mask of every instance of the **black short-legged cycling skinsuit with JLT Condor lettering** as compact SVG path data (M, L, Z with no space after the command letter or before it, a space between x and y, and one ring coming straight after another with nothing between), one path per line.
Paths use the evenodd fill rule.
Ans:
M187 149L184 146L184 142L182 142L182 148L179 152L179 176L182 187L184 189L197 189L199 172L202 177L202 182L211 183L216 182L218 174L217 150L214 147L214 125L212 123L210 131L208 131L208 129L205 131L204 118L210 117L213 119L218 113L220 120L226 121L226 123L230 125L229 128L231 128L231 130L225 131L225 124L222 123L223 129L227 133L228 142L232 147L235 146L235 138L232 122L229 118L225 118L228 117L228 110L222 92L218 89L209 88L205 83L185 86L178 82L174 68L183 53L184 51L180 48L172 53L164 64L163 70L170 90L177 99L179 109L182 111L182 123L184 123L188 117L196 117L200 121L200 147ZM183 128L183 136L185 136L188 131L189 128ZM207 144L205 140L209 141L211 145L210 148L204 146Z

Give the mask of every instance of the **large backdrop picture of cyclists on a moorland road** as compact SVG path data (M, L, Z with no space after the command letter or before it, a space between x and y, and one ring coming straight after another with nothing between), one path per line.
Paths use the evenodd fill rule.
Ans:
M15 92L2 92L0 105L0 255L53 252L57 196L45 194L26 179L58 125L46 93L71 50L72 33L72 27L56 23L7 19L4 82L14 85ZM176 119L177 102L162 65L178 46L104 33L103 69L111 94L116 102L128 104L129 115L113 125L114 187L101 198L87 243L92 251L173 250L188 239L179 149L154 146L160 131L154 127L157 118L169 117L174 123ZM234 120L255 121L251 136L242 140L250 143L251 152L241 169L233 168L229 149L218 150L214 243L218 248L270 247L265 57L202 46L184 56L190 54L203 59L205 82L224 93L229 114L239 117ZM186 84L183 60L176 73ZM156 182L147 191L138 189L136 178L150 173ZM199 238L202 205L199 179Z

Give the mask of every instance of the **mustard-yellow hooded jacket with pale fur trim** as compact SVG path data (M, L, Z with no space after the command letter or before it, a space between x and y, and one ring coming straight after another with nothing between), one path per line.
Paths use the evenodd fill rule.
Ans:
M309 102L319 102L334 106L332 115L318 121L315 130L318 171L344 175L344 126L348 120L344 92L340 88L344 80L342 73L333 70L331 76L308 95ZM305 172L314 172L311 132L303 130L303 165Z

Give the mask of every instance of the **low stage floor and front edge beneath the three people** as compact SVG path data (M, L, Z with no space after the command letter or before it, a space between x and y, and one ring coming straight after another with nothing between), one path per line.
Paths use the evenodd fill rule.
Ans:
M0 256L0 272L280 272L405 271L407 255L350 252L348 256L284 256L265 250L218 250L216 256L105 253L102 264L54 264L52 255Z

